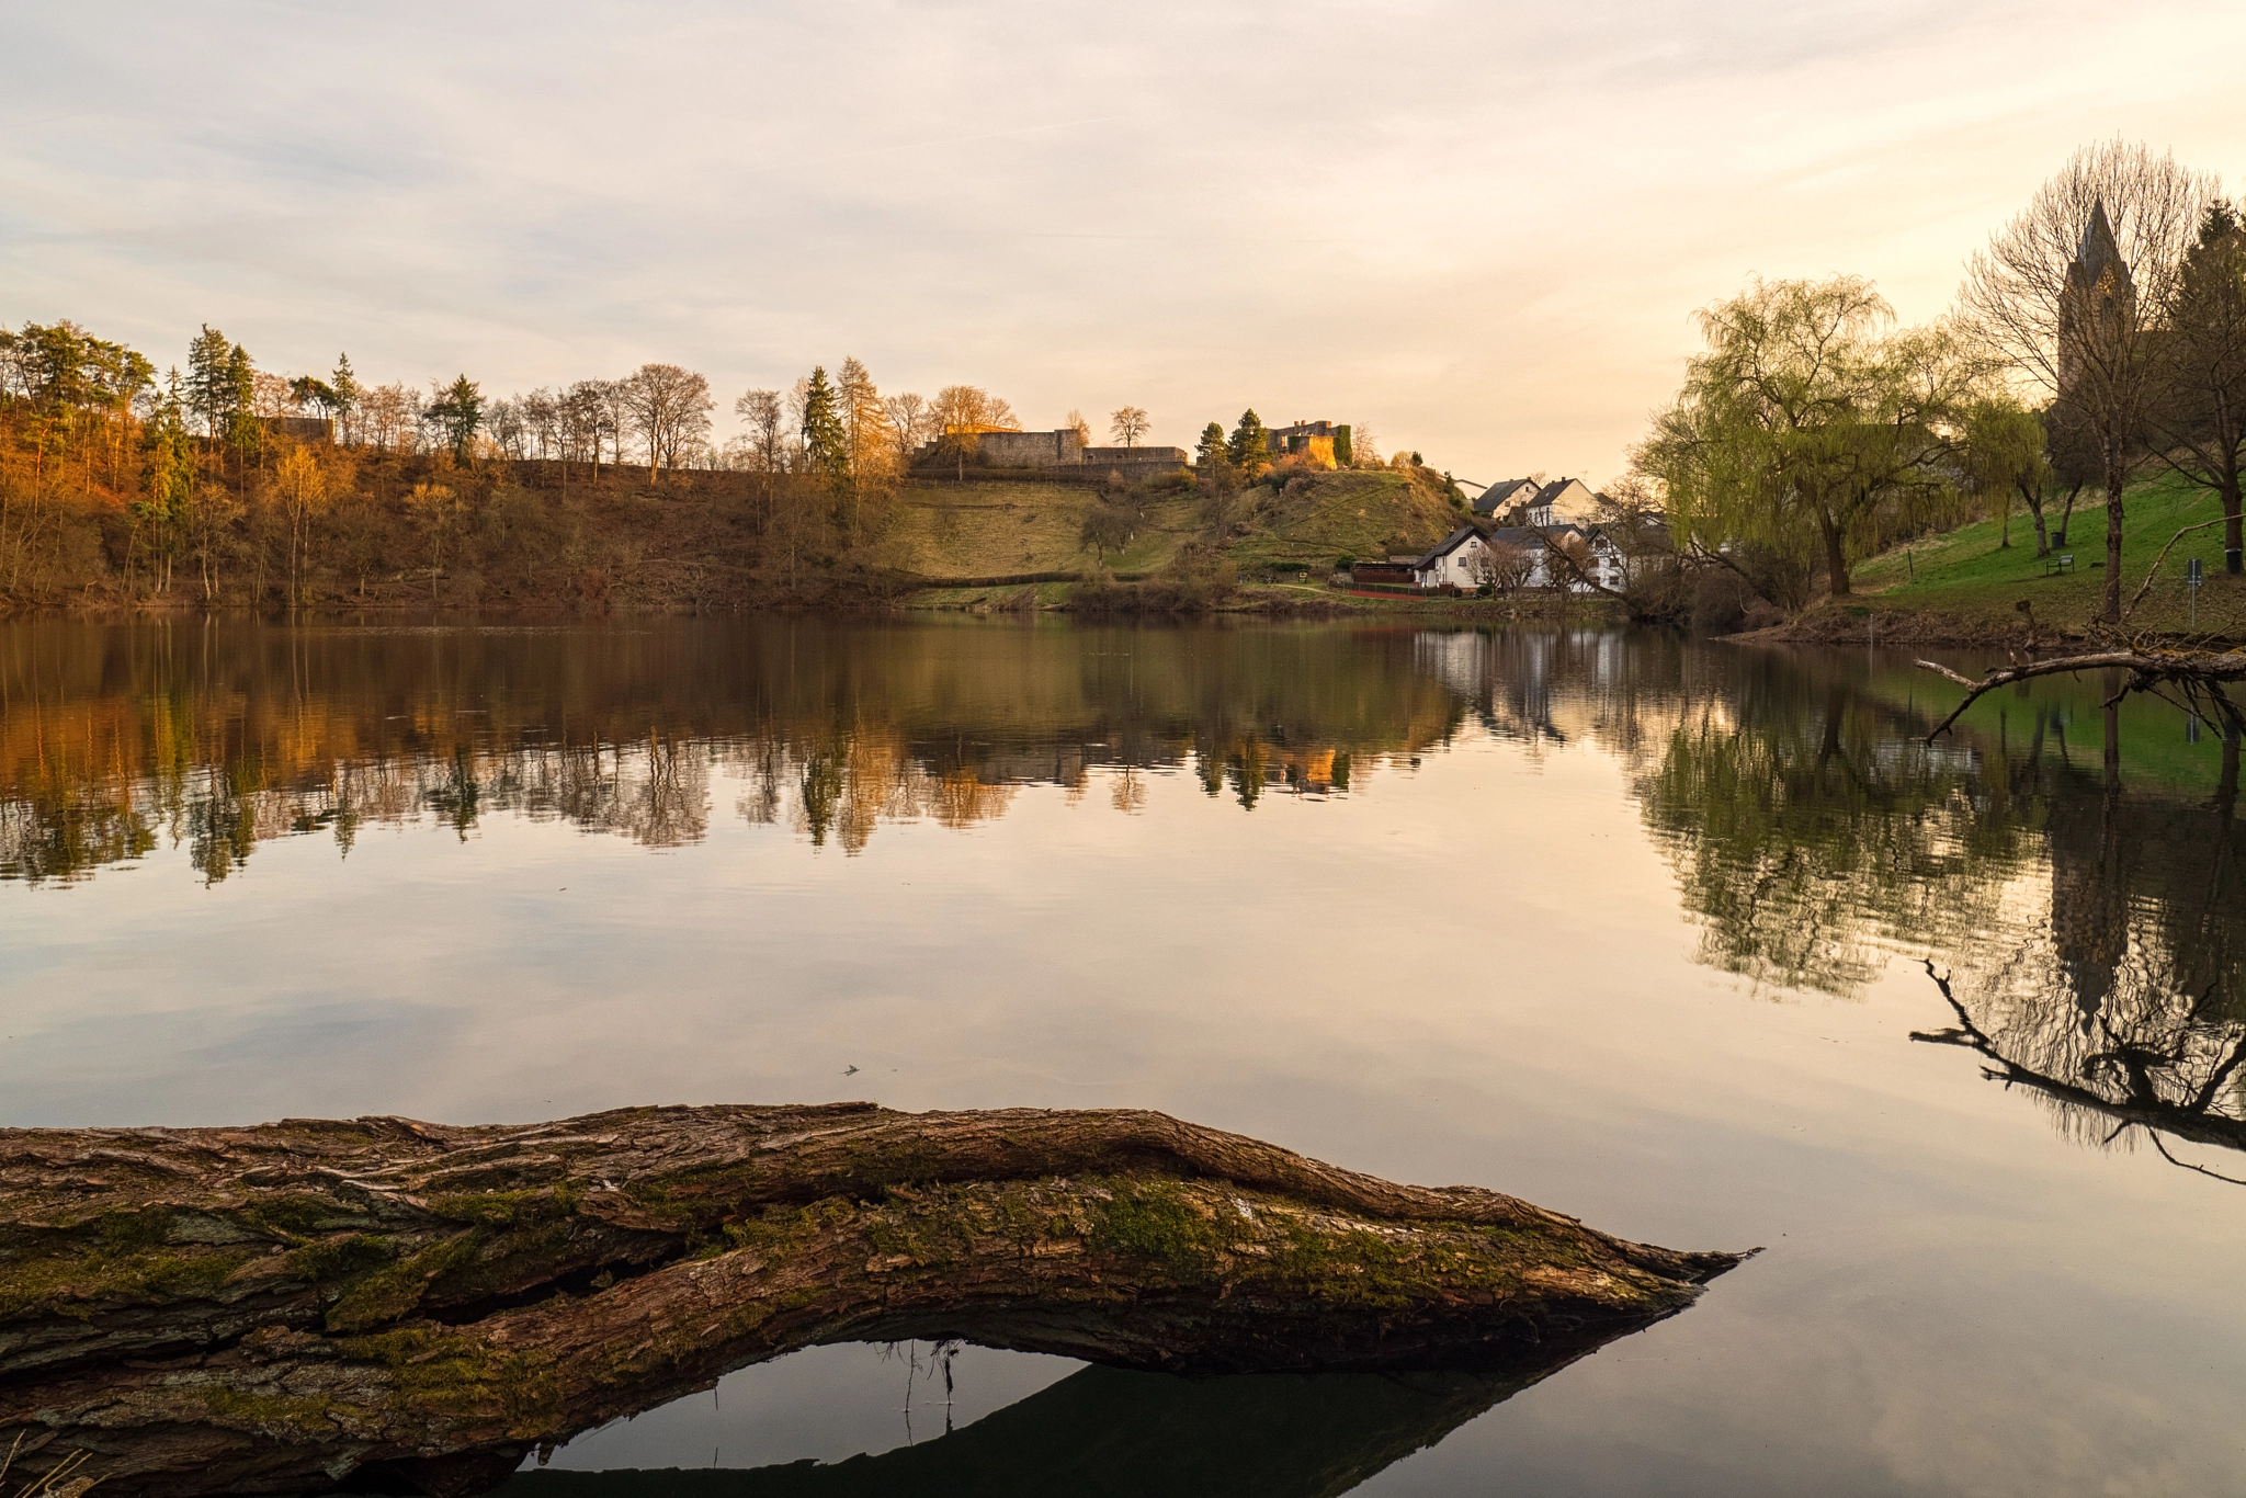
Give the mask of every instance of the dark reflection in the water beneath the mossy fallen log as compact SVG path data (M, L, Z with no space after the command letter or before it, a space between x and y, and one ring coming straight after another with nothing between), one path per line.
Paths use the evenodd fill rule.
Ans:
M1327 1498L1581 1352L1507 1370L1179 1379L1085 1368L916 1446L750 1471L526 1471L499 1498Z

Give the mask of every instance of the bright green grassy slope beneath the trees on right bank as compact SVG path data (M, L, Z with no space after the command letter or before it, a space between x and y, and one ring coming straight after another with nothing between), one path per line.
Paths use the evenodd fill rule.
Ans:
M1860 564L1855 591L1878 595L1880 613L1938 611L1961 620L1990 622L2017 622L2017 604L2028 600L2039 624L2080 629L2105 606L2105 496L2084 494L2084 501L2091 499L2096 503L2075 508L2066 528L2066 546L2053 548L2073 552L2075 570L2069 575L2044 575L2044 564L2035 555L2035 521L2015 514L2008 548L1999 546L1997 521L1976 521ZM2055 510L2048 514L2053 521L2057 519ZM2122 514L2127 526L2122 606L2127 609L2145 570L2170 537L2183 526L2217 519L2221 508L2215 494L2192 490L2167 474L2134 485L2122 499ZM2206 566L2206 586L2199 591L2199 631L2246 638L2246 577L2224 573L2221 526L2194 530L2176 541L2161 566L2158 582L2129 615L2127 627L2192 629L2185 586L2190 557L2199 557Z

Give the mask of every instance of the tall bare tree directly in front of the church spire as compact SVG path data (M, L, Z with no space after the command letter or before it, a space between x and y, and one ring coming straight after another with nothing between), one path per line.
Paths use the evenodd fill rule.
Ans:
M2212 200L2172 155L2084 146L1965 274L1961 310L2017 377L2082 422L2107 481L2105 620L2120 622L2122 490L2145 460L2154 346Z

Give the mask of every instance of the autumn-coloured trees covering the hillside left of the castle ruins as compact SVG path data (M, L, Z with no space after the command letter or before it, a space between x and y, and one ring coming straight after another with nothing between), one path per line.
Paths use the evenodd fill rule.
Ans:
M276 375L209 326L162 375L70 321L0 330L0 604L375 600L409 575L440 602L501 575L528 600L573 573L597 593L649 552L690 577L748 568L793 588L883 535L914 456L1020 427L968 384L883 395L858 359L746 391L746 429L723 447L712 409L707 377L676 364L487 398L467 375L366 384L348 355ZM690 514L665 521L676 535L624 535L665 512L586 510L573 485L627 463L649 485L739 476L716 508L672 512Z

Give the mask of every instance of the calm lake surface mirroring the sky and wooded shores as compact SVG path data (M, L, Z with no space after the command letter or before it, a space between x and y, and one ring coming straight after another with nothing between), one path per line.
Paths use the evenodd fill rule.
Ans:
M517 1498L2246 1494L2237 743L2102 698L1929 750L1905 658L1667 636L0 627L0 1123L1136 1105L1770 1249L1509 1399L822 1348Z

